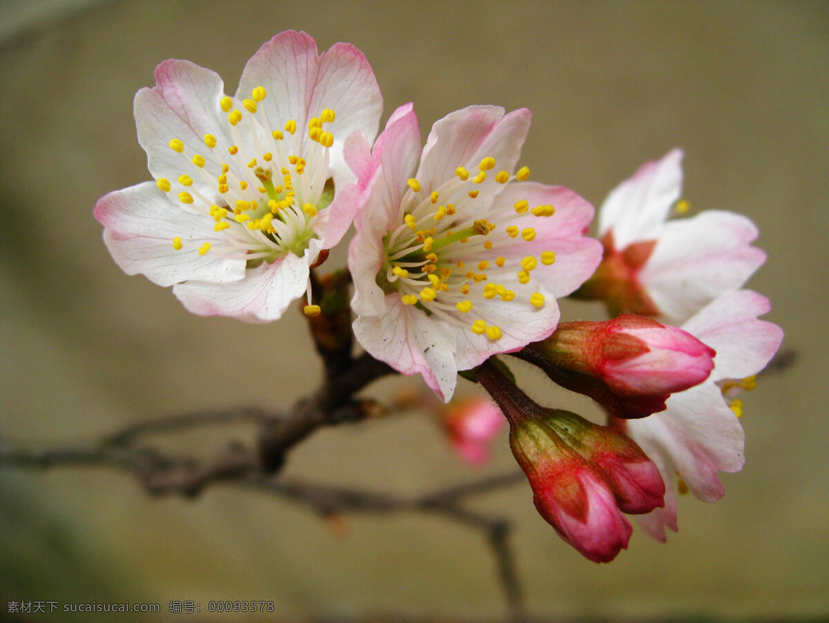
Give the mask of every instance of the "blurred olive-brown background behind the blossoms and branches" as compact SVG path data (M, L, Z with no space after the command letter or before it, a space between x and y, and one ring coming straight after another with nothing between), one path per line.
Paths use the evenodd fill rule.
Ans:
M306 30L323 50L349 41L366 53L384 123L411 100L424 138L468 104L529 107L522 162L596 205L643 161L684 147L692 209L734 210L761 230L768 263L749 287L772 299L767 318L797 360L744 396L744 471L723 476L715 505L681 499L669 543L637 531L603 566L555 536L525 483L473 500L514 522L531 613L829 611L829 3L5 0L0 10L0 434L91 439L148 415L287 406L317 383L302 318L250 326L191 316L170 292L121 273L92 217L99 196L149 179L132 101L153 85L155 65L192 60L232 93L264 41ZM600 310L565 303L564 313ZM215 382L219 365L235 371L232 383ZM597 414L530 380L540 401ZM389 398L400 385L366 394ZM210 452L251 435L233 427L160 442ZM430 418L409 415L320 432L286 473L416 493L511 466L506 439L473 471ZM2 470L0 495L3 612L22 599L158 601L164 612L171 599L220 598L272 599L279 619L505 612L480 535L441 519L350 516L342 535L248 491L152 499L95 468Z

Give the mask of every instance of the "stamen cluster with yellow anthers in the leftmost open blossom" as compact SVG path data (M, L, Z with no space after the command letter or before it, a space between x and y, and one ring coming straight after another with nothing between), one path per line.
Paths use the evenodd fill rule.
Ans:
M182 155L182 175L157 180L182 207L214 222L219 239L172 239L174 249L190 247L201 255L243 259L249 268L272 263L287 254L302 255L313 238L318 213L331 203L328 150L333 135L324 128L335 113L323 109L308 122L308 136L298 133L296 119L269 118L259 104L267 95L259 86L240 108L230 97L219 105L226 113L225 132L205 134L209 157L189 153L172 138L169 147ZM284 123L283 123L284 121ZM274 129L275 128L275 129Z

